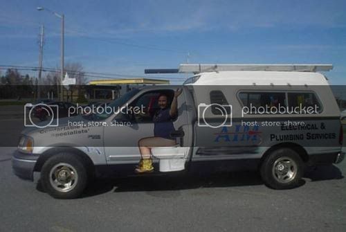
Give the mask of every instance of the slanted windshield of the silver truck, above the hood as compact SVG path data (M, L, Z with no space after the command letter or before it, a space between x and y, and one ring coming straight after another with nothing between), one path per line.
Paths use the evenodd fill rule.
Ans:
M111 114L113 114L114 112L117 112L118 109L120 107L122 107L122 105L125 105L125 103L131 99L133 96L136 95L136 93L139 92L139 89L132 89L131 91L125 93L123 96L121 96L120 98L114 100L113 102L111 102L109 105L107 105L107 109L112 109L112 110L104 110L102 111L102 114L91 114L88 119L91 120L103 120L108 118L109 116L111 116ZM106 106L104 106L106 107Z

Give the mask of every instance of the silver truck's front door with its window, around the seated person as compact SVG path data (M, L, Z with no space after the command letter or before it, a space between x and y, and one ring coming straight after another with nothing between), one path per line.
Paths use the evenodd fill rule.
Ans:
M134 100L127 105L131 109L140 109L136 114L131 112L119 113L111 119L111 126L104 128L104 147L107 163L138 163L140 152L138 141L145 137L154 136L154 123L152 117L158 109L158 96L167 95L172 101L176 87L165 89L143 89ZM136 108L135 108L136 107ZM125 123L130 125L125 125ZM185 102L185 93L178 98L178 116L174 119L174 129L183 131L181 138L177 138L177 146L183 145L186 154L190 151L192 143L189 130L192 125L188 123L188 111ZM188 145L188 146L187 146Z

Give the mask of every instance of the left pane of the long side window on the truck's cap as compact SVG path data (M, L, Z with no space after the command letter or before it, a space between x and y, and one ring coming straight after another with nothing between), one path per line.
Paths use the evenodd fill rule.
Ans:
M239 99L246 107L278 107L286 106L285 93L277 92L242 92L239 93Z

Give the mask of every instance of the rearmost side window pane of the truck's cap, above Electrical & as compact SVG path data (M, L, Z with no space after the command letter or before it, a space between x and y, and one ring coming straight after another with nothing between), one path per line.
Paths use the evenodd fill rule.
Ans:
M287 96L289 98L289 107L316 107L315 114L322 111L322 106L315 93L287 93Z

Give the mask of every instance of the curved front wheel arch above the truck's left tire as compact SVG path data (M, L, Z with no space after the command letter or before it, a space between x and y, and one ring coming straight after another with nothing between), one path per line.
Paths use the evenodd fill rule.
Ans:
M86 170L90 174L94 173L95 168L93 165L93 161L90 159L90 157L88 157L81 150L78 150L77 148L70 148L70 147L51 148L47 150L46 152L44 152L43 154L39 156L39 159L37 160L34 171L41 172L42 166L44 166L44 163L46 163L46 161L49 158L53 157L55 154L62 153L62 152L69 152L69 153L75 154L75 156L80 158L83 161L83 163L86 164Z

